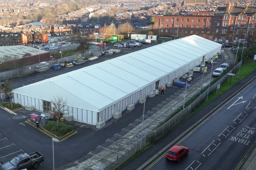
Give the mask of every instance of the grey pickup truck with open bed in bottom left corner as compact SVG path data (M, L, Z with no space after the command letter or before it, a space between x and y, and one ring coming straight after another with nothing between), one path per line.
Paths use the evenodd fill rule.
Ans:
M25 168L38 168L40 162L44 161L44 156L40 152L30 154L22 153L15 156L2 166L2 170L20 170Z

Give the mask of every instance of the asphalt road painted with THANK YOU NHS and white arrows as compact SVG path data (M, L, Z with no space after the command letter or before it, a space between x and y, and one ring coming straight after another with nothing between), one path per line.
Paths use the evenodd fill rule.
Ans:
M177 143L190 149L180 163L162 156L146 169L235 169L256 140L255 87L256 80Z

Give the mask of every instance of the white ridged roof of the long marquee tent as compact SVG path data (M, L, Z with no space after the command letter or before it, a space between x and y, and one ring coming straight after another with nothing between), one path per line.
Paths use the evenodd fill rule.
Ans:
M69 106L95 112L113 105L172 71L205 55L216 55L221 44L191 35L71 71L13 90L50 101L67 98Z

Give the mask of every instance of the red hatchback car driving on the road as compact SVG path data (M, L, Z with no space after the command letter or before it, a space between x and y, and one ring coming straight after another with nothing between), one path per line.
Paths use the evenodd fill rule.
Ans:
M189 149L185 146L177 145L172 146L166 153L165 158L173 161L180 162L180 159L188 155Z

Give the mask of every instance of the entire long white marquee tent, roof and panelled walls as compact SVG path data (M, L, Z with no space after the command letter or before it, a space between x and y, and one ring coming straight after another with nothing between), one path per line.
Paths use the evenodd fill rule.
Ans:
M191 35L17 88L14 102L47 112L44 105L60 96L74 121L96 125L220 50L221 44Z

